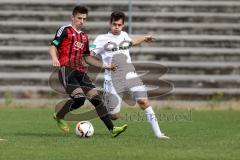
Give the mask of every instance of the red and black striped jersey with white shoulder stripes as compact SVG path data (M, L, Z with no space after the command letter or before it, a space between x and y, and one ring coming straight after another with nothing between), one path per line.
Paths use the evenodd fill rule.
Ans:
M86 33L77 32L71 25L63 26L57 30L51 44L58 50L61 66L68 66L79 72L86 72L83 56L90 55Z

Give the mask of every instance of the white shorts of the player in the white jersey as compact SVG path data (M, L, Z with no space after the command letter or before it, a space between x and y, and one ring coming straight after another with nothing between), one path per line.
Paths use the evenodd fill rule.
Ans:
M120 112L122 99L127 104L135 105L136 101L141 98L147 98L147 90L144 85L126 88L125 92L117 93L111 80L104 81L104 99L107 110L110 114Z

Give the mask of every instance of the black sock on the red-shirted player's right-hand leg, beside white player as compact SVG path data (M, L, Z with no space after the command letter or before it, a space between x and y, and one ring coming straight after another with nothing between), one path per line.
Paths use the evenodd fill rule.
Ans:
M106 107L103 104L101 97L99 95L96 95L89 101L94 105L94 107L98 113L98 116L104 122L104 124L106 125L108 130L113 130L114 125L112 123L112 120L108 114Z

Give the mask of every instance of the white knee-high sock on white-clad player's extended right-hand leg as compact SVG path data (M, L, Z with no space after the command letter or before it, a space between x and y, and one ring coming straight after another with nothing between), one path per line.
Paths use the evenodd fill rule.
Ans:
M156 116L155 116L155 113L154 113L152 107L149 106L148 108L146 108L146 109L144 110L144 112L145 112L145 115L146 115L146 117L147 117L147 121L148 121L148 122L150 123L150 125L152 126L152 129L153 129L155 135L156 135L157 137L159 137L159 136L162 134L162 132L161 132L161 130L160 130L160 128L159 128L158 121L157 121L157 118L156 118Z

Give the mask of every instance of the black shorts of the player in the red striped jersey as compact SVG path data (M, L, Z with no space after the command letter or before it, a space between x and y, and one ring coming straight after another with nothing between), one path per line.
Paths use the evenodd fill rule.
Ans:
M69 95L72 95L77 88L81 88L84 94L96 88L87 73L82 73L66 66L60 68L59 80Z

